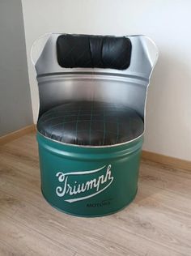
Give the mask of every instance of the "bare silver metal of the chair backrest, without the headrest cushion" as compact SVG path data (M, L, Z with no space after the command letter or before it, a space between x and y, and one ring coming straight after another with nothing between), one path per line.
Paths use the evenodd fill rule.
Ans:
M49 34L43 47L40 46L42 37L35 43L39 54L34 64L40 94L40 115L53 106L72 100L98 100L127 105L142 118L145 117L146 91L158 58L158 50L151 39L127 36L132 43L132 53L130 66L126 70L71 69L62 68L57 63L56 42L60 35Z

